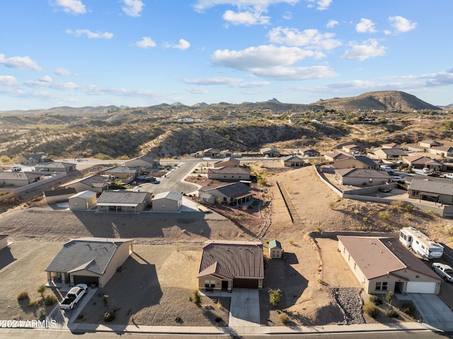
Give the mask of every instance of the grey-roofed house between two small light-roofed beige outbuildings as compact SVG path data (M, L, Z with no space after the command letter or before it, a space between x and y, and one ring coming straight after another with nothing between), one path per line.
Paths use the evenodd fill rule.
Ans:
M105 190L98 197L98 212L129 212L143 211L151 204L148 192L131 192L130 190Z

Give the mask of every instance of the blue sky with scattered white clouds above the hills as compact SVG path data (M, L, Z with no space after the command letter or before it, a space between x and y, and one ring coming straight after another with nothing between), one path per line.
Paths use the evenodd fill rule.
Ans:
M0 110L313 103L367 91L453 103L451 0L5 0Z

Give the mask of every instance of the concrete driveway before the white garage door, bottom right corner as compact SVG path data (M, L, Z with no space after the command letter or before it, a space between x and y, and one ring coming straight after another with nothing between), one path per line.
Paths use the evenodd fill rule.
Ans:
M424 323L444 331L453 331L453 311L437 295L408 293L407 296L417 307Z

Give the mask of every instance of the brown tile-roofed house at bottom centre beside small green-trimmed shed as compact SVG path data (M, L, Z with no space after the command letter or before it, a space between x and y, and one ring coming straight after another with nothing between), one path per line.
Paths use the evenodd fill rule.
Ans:
M263 244L258 241L205 241L198 287L207 290L263 288Z

